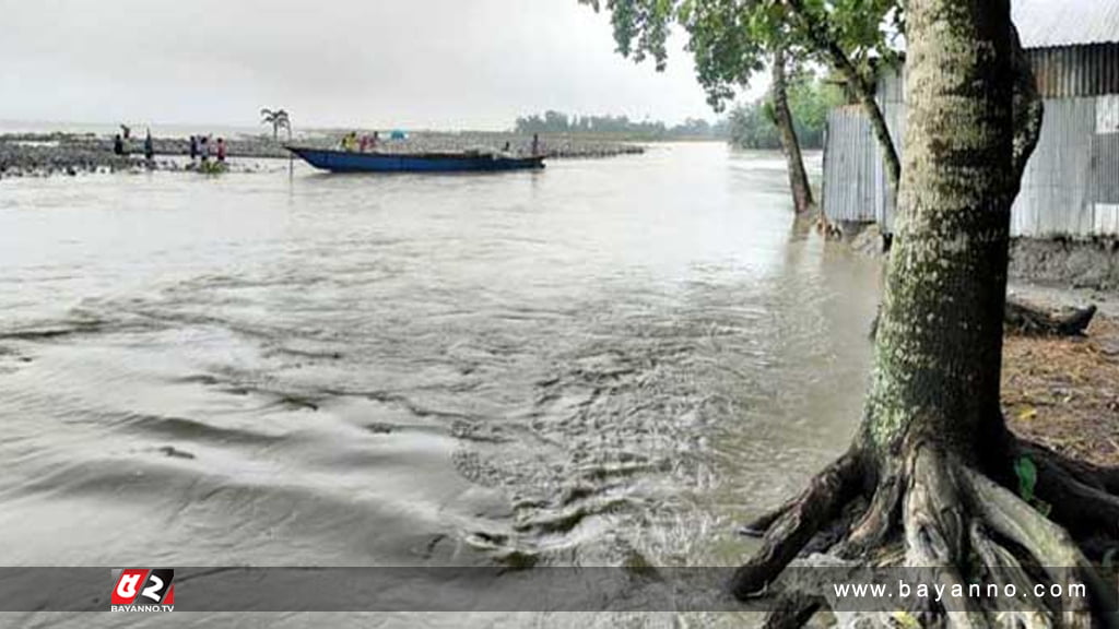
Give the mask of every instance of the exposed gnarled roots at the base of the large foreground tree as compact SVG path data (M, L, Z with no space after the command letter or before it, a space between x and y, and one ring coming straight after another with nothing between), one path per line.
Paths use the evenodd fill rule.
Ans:
M1066 461L1032 444L1019 444L1012 452L1028 452L1036 459L1037 496L1050 500L1052 516L1069 529L935 444L908 445L902 464L890 466L888 475L868 468L869 459L855 451L829 466L796 500L758 520L768 525L762 547L735 573L732 593L746 599L767 590L806 547L819 545L821 531L835 526L837 518L852 518L855 524L846 523L846 535L828 542L829 548L820 548L827 555L797 561L798 566L833 572L801 571L792 583L782 582L767 627L803 626L822 607L831 607L846 621L865 617L875 625L893 622L881 612L841 611L838 603L843 601L820 581L846 574L844 569L876 565L920 570L930 586L942 585L949 592L953 586L969 592L974 583L999 592L1007 586L1022 594L1033 594L1038 586L1046 592L1046 597L985 594L915 601L916 607L905 613L920 618L922 626L1033 627L1041 622L1119 628L1115 593L1078 545L1082 538L1073 535L1091 532L1097 541L1119 538L1119 498L1106 490L1091 468L1076 467L1073 475ZM866 505L863 488L871 473L877 481L874 496L853 517L849 505ZM1087 586L1087 598L1075 595L1073 585L1080 584ZM1060 595L1053 595L1054 586L1061 588Z

